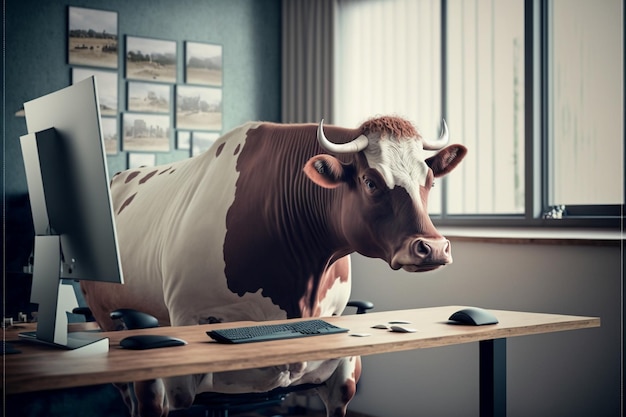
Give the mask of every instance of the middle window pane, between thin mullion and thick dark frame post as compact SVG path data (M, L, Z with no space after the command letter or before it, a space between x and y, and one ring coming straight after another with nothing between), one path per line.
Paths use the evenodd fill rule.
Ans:
M447 214L524 213L524 2L447 2L446 120L470 150Z

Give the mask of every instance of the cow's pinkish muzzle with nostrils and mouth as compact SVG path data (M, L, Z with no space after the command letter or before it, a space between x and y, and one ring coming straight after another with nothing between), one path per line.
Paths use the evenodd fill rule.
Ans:
M406 242L391 259L392 269L426 272L452 263L450 241L420 237Z

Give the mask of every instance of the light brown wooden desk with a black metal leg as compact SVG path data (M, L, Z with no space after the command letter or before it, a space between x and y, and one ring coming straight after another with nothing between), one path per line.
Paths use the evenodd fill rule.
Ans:
M8 342L23 353L7 355L6 393L22 393L110 382L137 381L176 375L219 372L282 365L305 360L373 355L385 352L480 342L480 415L506 414L506 338L600 326L597 317L566 316L491 310L500 323L487 326L450 325L447 318L461 306L376 312L325 318L369 337L348 334L302 339L224 345L212 341L206 331L251 322L161 327L102 333L110 338L110 351L89 357L20 342L9 330ZM410 320L417 333L392 333L372 329L377 323ZM277 321L280 322L280 321ZM277 323L276 322L276 323ZM274 322L270 322L274 323ZM167 334L188 342L186 346L143 351L125 350L119 341L131 334Z

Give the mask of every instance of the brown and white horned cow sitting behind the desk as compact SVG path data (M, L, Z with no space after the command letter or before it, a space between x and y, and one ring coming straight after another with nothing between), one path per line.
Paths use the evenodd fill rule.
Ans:
M447 142L445 123L428 141L397 117L357 129L251 122L197 157L119 173L126 284L83 281L85 299L105 330L119 308L174 326L341 314L353 252L410 272L452 262L427 212L434 179L467 151ZM343 417L360 372L352 357L119 386L133 415L160 416L200 392L322 383L327 415Z

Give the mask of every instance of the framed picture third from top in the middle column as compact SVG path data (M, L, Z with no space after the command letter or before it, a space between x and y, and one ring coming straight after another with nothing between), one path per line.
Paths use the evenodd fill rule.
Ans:
M122 126L122 150L169 152L169 114L124 113Z

